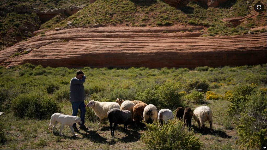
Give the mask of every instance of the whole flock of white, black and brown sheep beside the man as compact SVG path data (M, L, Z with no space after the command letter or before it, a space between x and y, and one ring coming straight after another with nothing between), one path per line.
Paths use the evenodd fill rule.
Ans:
M101 124L102 119L108 117L110 131L113 137L114 130L118 124L124 125L123 131L126 133L127 126L130 124L132 119L135 124L138 124L141 120L151 124L154 121L158 121L163 124L163 122L167 123L169 119L174 119L170 109L161 109L158 111L156 106L152 104L147 105L142 101L128 101L120 98L117 98L116 102L99 102L91 100L86 106L91 107L95 114L100 118L98 125ZM212 112L208 106L199 106L194 110L194 112L189 107L185 109L178 107L176 109L176 119L179 118L179 120L181 120L183 118L183 122L186 121L186 125L188 127L191 127L192 117L198 123L199 129L201 125L201 128L204 131L204 123L206 121L209 121L211 129Z

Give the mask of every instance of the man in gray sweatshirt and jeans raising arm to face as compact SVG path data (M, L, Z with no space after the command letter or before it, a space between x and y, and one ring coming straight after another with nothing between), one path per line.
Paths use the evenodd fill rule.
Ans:
M84 118L85 118L85 104L84 104L84 85L83 83L85 82L86 76L84 76L84 73L81 70L78 70L76 73L76 77L72 78L70 80L70 102L72 105L72 116L77 116L78 114L78 109L81 111L81 120L82 124L80 124L80 129L82 130L88 130L87 127L84 125ZM73 130L75 132L80 131L76 127L76 123L72 125Z

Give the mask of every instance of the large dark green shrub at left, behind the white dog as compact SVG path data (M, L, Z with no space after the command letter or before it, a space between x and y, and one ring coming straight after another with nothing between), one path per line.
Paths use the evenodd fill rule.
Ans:
M61 112L56 101L38 91L18 95L11 101L11 108L15 116L32 119L48 119L53 113Z

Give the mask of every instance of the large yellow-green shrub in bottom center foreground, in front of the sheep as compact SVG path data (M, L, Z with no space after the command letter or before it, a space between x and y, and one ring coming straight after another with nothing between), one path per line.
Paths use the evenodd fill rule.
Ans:
M184 127L180 121L172 120L168 124L147 124L147 131L141 133L141 140L148 149L201 149L201 141Z

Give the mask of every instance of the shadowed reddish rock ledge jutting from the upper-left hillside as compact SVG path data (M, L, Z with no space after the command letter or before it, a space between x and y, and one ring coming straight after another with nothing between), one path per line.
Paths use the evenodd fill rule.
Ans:
M61 8L55 8L55 9L47 9L47 10L40 10L40 9L34 9L33 12L36 13L40 20L42 22L46 22L49 21L50 19L52 19L53 17L55 17L56 15L60 14L60 13L67 13L69 15L75 14L77 13L79 10L83 9L83 7L85 7L85 5L80 5L80 6L72 6L69 9L61 9Z

